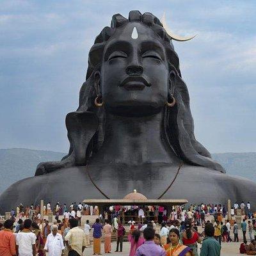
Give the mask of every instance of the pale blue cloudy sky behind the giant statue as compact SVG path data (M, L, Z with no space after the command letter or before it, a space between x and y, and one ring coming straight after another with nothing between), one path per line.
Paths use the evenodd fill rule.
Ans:
M210 152L256 151L256 1L12 1L0 5L0 148L67 152L87 56L111 17L166 11L189 88L196 138Z

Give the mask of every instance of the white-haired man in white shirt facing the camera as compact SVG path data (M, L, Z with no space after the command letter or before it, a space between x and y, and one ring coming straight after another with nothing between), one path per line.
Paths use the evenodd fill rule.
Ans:
M61 256L64 253L64 244L61 234L58 233L58 226L52 225L52 232L47 236L44 246L49 256Z

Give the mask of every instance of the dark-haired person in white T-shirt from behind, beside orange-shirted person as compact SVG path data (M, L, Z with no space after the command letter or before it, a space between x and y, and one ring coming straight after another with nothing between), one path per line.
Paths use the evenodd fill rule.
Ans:
M25 220L23 230L16 236L16 250L19 256L36 255L36 235L30 230L31 224L31 220Z

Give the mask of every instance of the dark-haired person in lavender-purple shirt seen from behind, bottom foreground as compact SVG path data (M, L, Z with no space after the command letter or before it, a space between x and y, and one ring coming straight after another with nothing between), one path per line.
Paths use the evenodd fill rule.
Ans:
M163 248L154 243L155 231L152 227L147 227L143 230L145 243L136 250L135 256L166 256Z

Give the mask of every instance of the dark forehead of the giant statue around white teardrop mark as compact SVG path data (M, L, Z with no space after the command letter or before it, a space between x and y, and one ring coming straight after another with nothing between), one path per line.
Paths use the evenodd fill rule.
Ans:
M138 33L138 36L134 36L134 33ZM156 33L147 25L141 22L128 22L125 24L125 26L117 28L115 33L108 40L105 49L108 48L108 45L113 44L115 41L127 41L134 45L140 44L140 42L154 41L157 44L163 45L161 40L159 40L159 36L157 36Z

